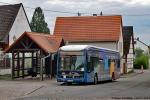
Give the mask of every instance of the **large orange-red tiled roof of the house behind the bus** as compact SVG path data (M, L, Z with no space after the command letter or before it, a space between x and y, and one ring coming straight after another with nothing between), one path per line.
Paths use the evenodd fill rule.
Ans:
M54 35L65 41L118 41L122 28L122 17L77 16L57 17Z

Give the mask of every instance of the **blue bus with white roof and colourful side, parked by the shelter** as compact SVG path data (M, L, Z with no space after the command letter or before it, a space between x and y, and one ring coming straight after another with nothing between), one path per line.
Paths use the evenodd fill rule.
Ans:
M90 45L66 45L58 51L57 82L97 84L119 76L118 51Z

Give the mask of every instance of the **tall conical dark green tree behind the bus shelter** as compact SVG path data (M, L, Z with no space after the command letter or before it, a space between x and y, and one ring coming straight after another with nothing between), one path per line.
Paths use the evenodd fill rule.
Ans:
M48 24L45 22L44 13L40 7L37 7L34 11L30 27L32 32L50 33Z

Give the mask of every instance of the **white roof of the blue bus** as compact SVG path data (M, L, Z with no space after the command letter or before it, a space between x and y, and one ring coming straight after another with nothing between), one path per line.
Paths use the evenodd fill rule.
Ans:
M101 49L101 50L119 52L117 50L112 50L112 49L108 49L108 48L101 48L101 47L92 46L92 45L66 45L66 46L60 47L59 50L62 50L62 51L82 51L84 49L89 49L89 48L96 48L99 50Z

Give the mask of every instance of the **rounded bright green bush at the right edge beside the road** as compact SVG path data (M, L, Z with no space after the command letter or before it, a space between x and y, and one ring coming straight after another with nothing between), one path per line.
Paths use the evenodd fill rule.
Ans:
M140 55L134 60L134 68L135 69L141 69L141 66L143 65L144 69L148 69L149 62L148 62L148 56L145 54Z

